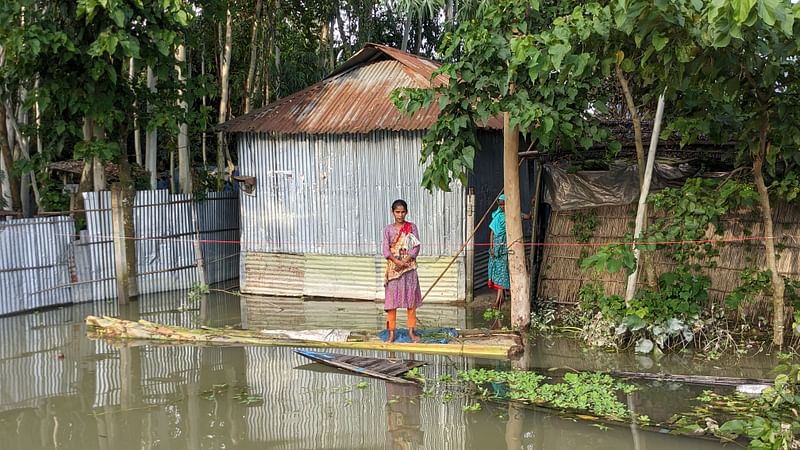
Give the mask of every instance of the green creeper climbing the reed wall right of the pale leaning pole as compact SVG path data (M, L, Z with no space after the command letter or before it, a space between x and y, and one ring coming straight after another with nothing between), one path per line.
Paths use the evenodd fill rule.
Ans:
M711 285L707 271L716 266L719 256L718 245L708 242L707 233L710 230L713 236L722 236L722 217L742 207L753 207L757 194L752 186L737 180L695 178L648 200L658 218L638 248L664 250L673 266L658 277L655 288L640 288L627 305L619 296L606 296L599 281L580 293L582 308L600 312L603 318L618 324L617 336L637 340L637 351L645 353L694 340L703 324L700 317ZM595 273L613 273L624 267L630 274L635 260L630 246L615 244L584 258L581 267ZM746 298L761 287L758 282L743 284L737 295Z

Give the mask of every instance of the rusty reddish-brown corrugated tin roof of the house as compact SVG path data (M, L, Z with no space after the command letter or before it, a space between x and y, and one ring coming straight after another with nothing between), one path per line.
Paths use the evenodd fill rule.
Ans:
M231 133L346 134L375 130L423 130L436 122L436 104L409 117L390 99L402 87L447 83L433 72L439 63L380 44L367 44L312 86L219 126ZM490 120L490 128L502 122Z

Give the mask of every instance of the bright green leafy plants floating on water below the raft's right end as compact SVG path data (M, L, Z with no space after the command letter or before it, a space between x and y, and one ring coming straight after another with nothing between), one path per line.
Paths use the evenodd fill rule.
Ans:
M491 384L495 395L509 400L588 412L613 420L623 420L628 416L625 405L617 400L618 393L635 390L632 385L617 382L608 374L599 372L567 373L561 383L544 383L545 377L535 372L488 369L459 372L459 378L479 389Z

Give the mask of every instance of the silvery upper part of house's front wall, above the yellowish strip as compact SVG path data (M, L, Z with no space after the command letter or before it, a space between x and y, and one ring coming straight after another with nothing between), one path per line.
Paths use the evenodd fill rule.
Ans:
M464 241L464 189L422 189L421 132L365 135L244 135L239 167L257 177L242 194L242 251L373 256L408 202L423 256L453 255Z

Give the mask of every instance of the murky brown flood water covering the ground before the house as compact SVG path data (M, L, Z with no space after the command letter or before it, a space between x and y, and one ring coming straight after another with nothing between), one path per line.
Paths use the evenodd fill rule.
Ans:
M502 403L465 412L475 399L447 400L415 386L325 370L290 348L110 344L88 339L83 325L86 315L106 314L190 327L377 329L381 313L380 305L370 303L220 294L201 307L186 293L171 293L141 297L124 308L83 304L0 318L0 449L723 448L714 440L606 428ZM477 325L468 323L471 316L463 307L420 310L425 326ZM474 367L511 368L507 361L411 357L429 363L422 368L429 379ZM514 364L639 371L684 364L682 373L709 370L691 357L680 358L647 363L584 352L562 339L537 342ZM766 373L769 361L710 364L756 376ZM623 401L654 421L685 407L698 392L677 384L641 387Z

